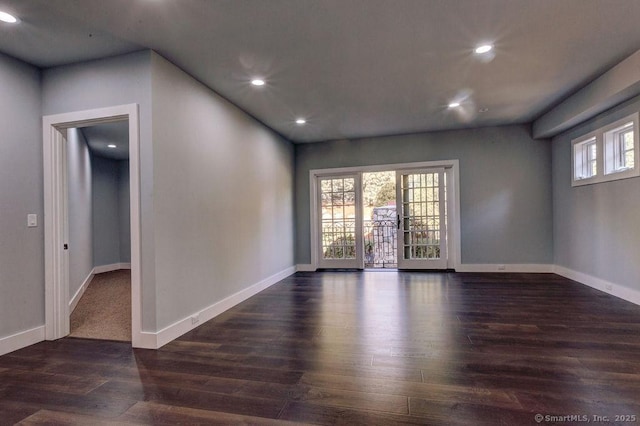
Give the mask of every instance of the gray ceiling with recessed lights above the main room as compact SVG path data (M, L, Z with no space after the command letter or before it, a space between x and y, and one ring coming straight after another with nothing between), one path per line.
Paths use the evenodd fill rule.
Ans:
M0 0L0 10L22 20L0 25L1 52L49 67L151 48L294 142L531 122L640 48L638 0ZM472 54L482 42L495 44L492 60ZM256 76L267 84L252 87Z

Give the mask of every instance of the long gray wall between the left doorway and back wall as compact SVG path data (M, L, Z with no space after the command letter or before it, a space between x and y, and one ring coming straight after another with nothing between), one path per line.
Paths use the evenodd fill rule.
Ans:
M294 265L293 147L153 56L158 328Z

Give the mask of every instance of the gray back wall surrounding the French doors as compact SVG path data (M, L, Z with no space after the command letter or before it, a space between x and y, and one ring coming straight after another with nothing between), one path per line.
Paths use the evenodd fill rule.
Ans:
M551 148L527 126L296 146L296 262L311 263L309 170L460 161L462 263L551 263Z

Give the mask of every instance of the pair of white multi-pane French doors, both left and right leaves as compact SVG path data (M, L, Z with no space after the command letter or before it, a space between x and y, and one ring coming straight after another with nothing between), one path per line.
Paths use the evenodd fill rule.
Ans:
M447 269L445 169L402 169L395 174L397 223L391 225L392 214L391 220L385 221L391 225L385 236L392 235L397 244L374 236L367 239L367 245L384 245L379 249L395 245L398 269ZM363 269L364 240L368 234L364 232L362 173L317 176L316 179L317 266ZM385 213L389 214L393 208L391 201L391 206L384 207ZM370 249L378 251L377 247Z

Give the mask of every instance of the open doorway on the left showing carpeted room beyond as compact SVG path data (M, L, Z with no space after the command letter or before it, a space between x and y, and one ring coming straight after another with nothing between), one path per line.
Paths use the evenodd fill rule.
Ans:
M71 337L131 341L129 123L67 129Z

